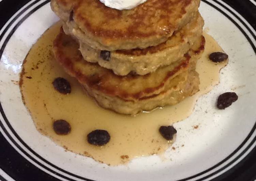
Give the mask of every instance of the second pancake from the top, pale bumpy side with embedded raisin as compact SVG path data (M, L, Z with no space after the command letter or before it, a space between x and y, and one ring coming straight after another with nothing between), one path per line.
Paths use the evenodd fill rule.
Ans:
M111 51L108 61L100 56L101 50L93 49L85 43L80 42L79 49L85 60L111 69L117 75L126 76L130 72L146 75L181 59L202 35L203 26L204 20L198 12L186 26L175 32L166 42L146 49ZM65 24L63 29L66 34L72 35Z

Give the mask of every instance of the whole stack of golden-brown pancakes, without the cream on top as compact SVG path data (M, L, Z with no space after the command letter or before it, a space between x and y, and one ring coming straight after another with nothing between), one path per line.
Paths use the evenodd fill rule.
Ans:
M200 0L148 0L115 10L99 0L52 0L63 21L56 60L104 108L137 114L199 91Z

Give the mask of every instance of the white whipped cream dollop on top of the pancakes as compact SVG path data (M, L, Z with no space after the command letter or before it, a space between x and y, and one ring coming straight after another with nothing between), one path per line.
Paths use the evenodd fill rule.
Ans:
M100 0L105 6L117 10L130 10L147 0Z

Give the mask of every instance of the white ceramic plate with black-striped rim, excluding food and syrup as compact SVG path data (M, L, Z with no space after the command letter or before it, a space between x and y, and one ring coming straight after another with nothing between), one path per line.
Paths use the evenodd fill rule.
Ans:
M0 2L1 12L12 9L16 2L7 1ZM117 167L66 152L35 129L15 81L19 80L22 62L31 46L59 19L51 11L49 0L16 3L16 9L13 7L9 14L0 16L3 18L0 29L0 180L232 178L240 169L238 166L245 164L246 158L252 158L256 146L256 15L251 13L256 12L256 3L245 1L243 5L235 1L230 5L221 0L201 1L199 11L205 19L204 28L209 29L208 33L229 55L230 61L221 70L220 84L199 98L189 118L175 124L180 131L174 146L185 146L168 149L165 153L168 161L151 156ZM235 8L238 6L243 10ZM217 110L217 97L230 91L238 94L238 101L225 111ZM193 126L199 124L194 130ZM244 171L240 170L241 174Z

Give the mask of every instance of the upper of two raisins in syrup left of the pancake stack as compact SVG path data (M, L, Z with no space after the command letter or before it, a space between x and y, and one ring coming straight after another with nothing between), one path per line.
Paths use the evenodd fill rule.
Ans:
M56 91L58 91L61 94L70 94L71 93L71 86L70 83L61 77L56 78L53 82L52 82L54 88L56 89Z

